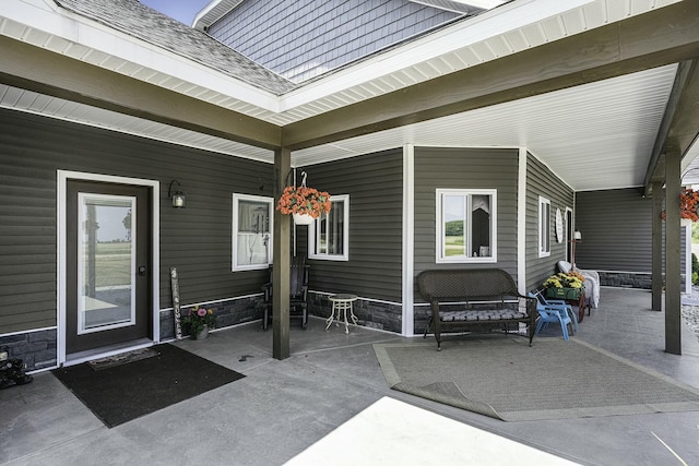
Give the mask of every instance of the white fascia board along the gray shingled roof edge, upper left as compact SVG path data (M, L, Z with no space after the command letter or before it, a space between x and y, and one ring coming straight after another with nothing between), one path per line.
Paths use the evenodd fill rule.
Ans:
M0 16L186 83L279 112L279 97L44 0L3 0ZM52 2L51 2L52 3ZM22 40L21 37L13 37ZM46 44L49 41L47 40ZM34 44L37 45L37 44ZM38 45L43 46L43 45ZM50 50L50 48L43 46ZM51 50L57 51L57 50Z

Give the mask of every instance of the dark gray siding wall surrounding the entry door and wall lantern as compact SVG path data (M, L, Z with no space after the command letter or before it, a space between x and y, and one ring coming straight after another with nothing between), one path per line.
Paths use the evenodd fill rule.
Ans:
M271 196L272 166L12 110L0 110L0 346L35 347L45 337L22 333L51 327L47 345L56 343L59 169L161 182L161 309L171 306L170 266L183 304L260 294L265 271L230 272L232 194ZM173 179L187 192L183 210L168 199ZM220 322L259 319L256 300L244 301L214 306Z

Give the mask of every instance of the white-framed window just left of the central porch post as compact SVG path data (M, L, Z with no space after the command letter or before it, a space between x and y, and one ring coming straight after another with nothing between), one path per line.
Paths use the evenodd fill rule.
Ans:
M233 194L233 271L268 268L272 263L274 200Z

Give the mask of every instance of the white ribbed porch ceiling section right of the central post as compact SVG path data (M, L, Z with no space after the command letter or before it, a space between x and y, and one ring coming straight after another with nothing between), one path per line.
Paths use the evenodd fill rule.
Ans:
M526 147L576 191L638 187L675 64L297 151L312 165L401 144Z

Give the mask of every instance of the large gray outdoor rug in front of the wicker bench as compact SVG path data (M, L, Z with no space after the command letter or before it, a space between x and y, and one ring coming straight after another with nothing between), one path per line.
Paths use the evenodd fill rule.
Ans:
M506 421L699 410L699 390L580 340L375 344L393 390Z

